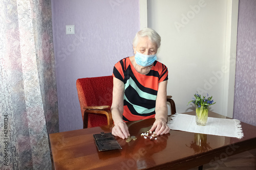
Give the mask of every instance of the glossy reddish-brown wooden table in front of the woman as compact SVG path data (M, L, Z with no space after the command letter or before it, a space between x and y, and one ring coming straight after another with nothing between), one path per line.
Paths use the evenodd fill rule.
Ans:
M209 116L225 118L214 112ZM93 134L111 132L112 126L50 134L55 169L188 169L209 162L214 168L221 158L256 148L256 127L245 123L242 139L175 130L157 140L141 137L153 123L154 119L127 123L138 139L127 143L116 137L122 150L113 151L98 152L93 139Z

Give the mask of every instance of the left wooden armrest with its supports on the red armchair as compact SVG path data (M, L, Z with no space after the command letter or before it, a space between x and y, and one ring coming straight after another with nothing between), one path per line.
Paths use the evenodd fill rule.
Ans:
M108 107L110 108L110 106ZM108 125L113 125L112 113L110 110L104 109L86 109L83 114L83 128L88 128L88 114L86 113L97 113L97 114L105 114L106 119L108 120Z

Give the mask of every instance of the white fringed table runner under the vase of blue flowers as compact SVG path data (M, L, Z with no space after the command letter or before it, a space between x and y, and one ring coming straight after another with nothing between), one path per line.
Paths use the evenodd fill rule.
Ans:
M240 139L244 136L240 121L237 119L208 117L206 126L198 126L195 115L176 113L168 118L167 125L172 130L237 137Z

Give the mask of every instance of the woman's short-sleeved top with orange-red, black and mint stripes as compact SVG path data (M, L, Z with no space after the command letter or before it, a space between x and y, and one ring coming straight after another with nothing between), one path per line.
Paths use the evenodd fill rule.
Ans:
M167 67L155 61L150 72L142 75L126 57L115 64L113 77L124 84L123 120L125 122L155 117L158 83L168 80Z

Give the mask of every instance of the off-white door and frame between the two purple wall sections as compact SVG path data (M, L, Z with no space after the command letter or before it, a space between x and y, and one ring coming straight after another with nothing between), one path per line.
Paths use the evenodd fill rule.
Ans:
M232 117L237 34L230 42L232 6L228 2L147 1L147 26L162 37L158 58L168 67L167 91L173 95L177 112L195 109L187 103L198 91L214 96L217 103L210 107L212 111Z

